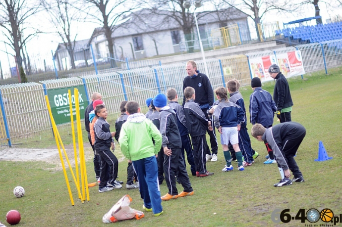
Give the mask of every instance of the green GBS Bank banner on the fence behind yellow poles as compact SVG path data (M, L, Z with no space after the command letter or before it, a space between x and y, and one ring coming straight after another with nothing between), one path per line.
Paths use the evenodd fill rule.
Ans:
M71 90L72 114L74 116L74 120L76 120L75 96L74 96L75 88L78 89L78 94L79 94L78 100L80 104L80 108L79 108L80 116L81 116L81 119L84 119L84 112L85 112L86 107L88 106L88 100L87 100L87 94L83 85L48 90L48 97L49 97L49 102L51 106L51 112L55 119L56 125L71 122L68 90Z

